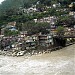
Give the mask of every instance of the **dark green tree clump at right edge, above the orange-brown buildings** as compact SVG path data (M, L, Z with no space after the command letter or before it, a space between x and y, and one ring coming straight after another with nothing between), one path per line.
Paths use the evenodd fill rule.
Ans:
M60 16L58 21L56 22L57 26L66 25L68 27L73 27L74 24L75 24L74 17L73 16L68 16L68 15Z

